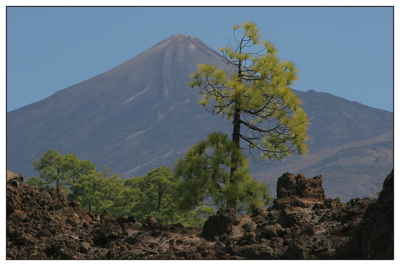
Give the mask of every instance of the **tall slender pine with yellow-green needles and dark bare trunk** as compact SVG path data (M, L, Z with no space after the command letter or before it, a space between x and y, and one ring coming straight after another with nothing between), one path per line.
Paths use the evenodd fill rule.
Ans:
M280 60L273 44L260 38L254 22L233 25L234 47L219 49L232 66L230 73L201 63L188 85L203 95L199 103L209 113L232 121L232 141L237 147L243 140L255 162L269 164L307 153L309 122L291 90L298 79L295 63ZM234 183L239 158L233 155L230 167L230 182Z

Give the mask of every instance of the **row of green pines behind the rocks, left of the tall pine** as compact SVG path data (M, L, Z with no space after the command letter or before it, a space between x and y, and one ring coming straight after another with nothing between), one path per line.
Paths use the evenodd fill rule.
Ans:
M69 200L76 200L92 213L108 210L111 216L134 216L138 222L153 216L160 223L182 223L186 227L201 227L215 213L206 206L179 209L172 193L181 181L166 166L150 170L142 177L123 180L106 166L101 173L90 160L81 161L75 154L63 155L55 150L45 152L34 166L39 177L30 177L26 183L48 190L51 186L61 186Z

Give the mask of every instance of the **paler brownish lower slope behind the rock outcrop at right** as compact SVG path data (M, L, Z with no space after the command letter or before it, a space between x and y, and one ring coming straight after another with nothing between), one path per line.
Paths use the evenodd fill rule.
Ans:
M346 143L337 147L285 164L272 172L260 172L257 177L271 187L276 186L276 176L285 171L314 176L323 173L327 197L340 197L346 202L354 191L359 197L378 192L383 183L381 172L393 167L393 132L369 139Z

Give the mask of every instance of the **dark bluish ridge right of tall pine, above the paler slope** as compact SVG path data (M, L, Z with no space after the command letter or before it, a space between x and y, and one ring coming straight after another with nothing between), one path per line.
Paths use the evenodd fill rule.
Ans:
M307 140L309 155L393 131L392 112L371 108L325 92L293 91L302 100L302 107L311 122ZM269 173L301 159L295 155L267 167L255 165L253 172Z

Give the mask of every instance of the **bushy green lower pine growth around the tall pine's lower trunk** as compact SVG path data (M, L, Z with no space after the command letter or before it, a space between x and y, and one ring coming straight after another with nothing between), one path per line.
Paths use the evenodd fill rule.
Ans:
M233 157L237 168L232 182ZM268 187L250 175L243 151L222 132L213 132L206 140L193 145L177 160L174 173L181 179L174 198L183 210L216 205L248 212L268 205L271 200Z

